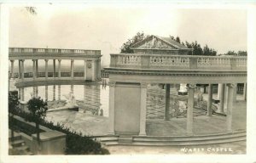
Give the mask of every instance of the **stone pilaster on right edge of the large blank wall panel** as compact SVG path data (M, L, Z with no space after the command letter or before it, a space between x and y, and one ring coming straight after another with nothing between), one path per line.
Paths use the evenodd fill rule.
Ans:
M140 132L139 135L146 134L146 112L147 112L147 83L141 83L141 112L140 112Z

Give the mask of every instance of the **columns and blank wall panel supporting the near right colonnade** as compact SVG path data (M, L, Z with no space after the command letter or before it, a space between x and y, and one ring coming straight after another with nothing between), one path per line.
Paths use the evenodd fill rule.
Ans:
M134 83L133 83L134 84ZM147 101L147 86L149 83L141 82L139 83L140 87L132 86L131 83L119 83L119 82L108 82L109 85L109 133L110 134L122 134L125 132L131 132L137 133L138 135L146 135L146 101ZM117 86L118 85L118 86ZM226 131L231 132L232 131L232 109L233 104L235 102L235 96L236 96L236 84L235 83L221 83L219 86L219 108L218 112L224 114L224 103L226 103ZM122 92L127 92L127 88L125 87L131 87L131 91L137 91L139 89L140 97L133 97L131 96L129 99L121 99L123 95L121 95ZM187 117L186 117L186 133L187 135L193 135L193 122L194 122L194 96L195 96L195 83L189 83L188 84L188 105L187 105ZM225 87L227 87L227 90L225 91ZM118 90L117 90L118 89ZM225 95L226 96L225 96ZM244 88L244 97L246 97L246 83ZM133 113L125 112L125 110L122 110L123 107L125 107L125 103L127 104L134 104L137 103L139 106L133 106L132 109ZM122 105L123 104L123 105ZM166 107L165 107L165 117L164 120L168 121L170 120L169 117L169 107L170 107L170 84L166 84ZM121 111L119 111L121 110ZM137 111L139 110L139 111ZM122 115L122 118L125 119L125 116L128 114L129 117L132 117L131 114L139 114L139 120L133 117L131 118L132 121L137 121L139 123L139 130L135 126L129 125L131 121L126 121L126 124L124 124L122 127L120 127L119 120L120 118L117 117ZM129 115L130 114L130 115ZM207 98L207 116L212 116L212 83L209 84L208 89L208 98ZM127 117L127 119L129 118ZM120 129L121 128L121 129ZM132 128L132 129L130 129ZM124 130L124 131L123 131ZM127 131L125 131L127 130Z

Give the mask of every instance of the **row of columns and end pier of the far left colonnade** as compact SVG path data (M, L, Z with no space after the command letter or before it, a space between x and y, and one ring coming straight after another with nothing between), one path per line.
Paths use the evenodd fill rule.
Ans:
M56 76L56 64L55 64L55 59L53 60L53 78L58 77L59 79L61 78L61 60L58 59L58 67L57 67L57 76ZM74 61L75 59L70 59L70 73L71 73L71 78L74 78ZM14 78L14 65L15 65L15 60L10 60L11 62L11 70L10 70L10 77ZM45 72L45 80L48 80L49 78L49 67L48 67L48 62L49 59L44 59L44 72ZM19 59L18 60L19 66L19 79L24 80L24 64L25 64L25 59ZM32 59L32 78L33 80L36 80L38 78L38 59ZM96 59L84 59L84 80L88 81L96 81L98 79L101 79L101 59L96 58Z

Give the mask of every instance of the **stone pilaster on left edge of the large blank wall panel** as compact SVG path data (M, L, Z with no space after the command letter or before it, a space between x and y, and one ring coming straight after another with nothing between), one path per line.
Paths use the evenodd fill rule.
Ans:
M109 81L109 134L114 134L114 87L115 82Z

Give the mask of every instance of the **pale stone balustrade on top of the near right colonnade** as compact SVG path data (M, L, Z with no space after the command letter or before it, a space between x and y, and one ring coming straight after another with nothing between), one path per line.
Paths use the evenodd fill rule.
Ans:
M110 67L177 70L247 70L247 57L113 53Z

